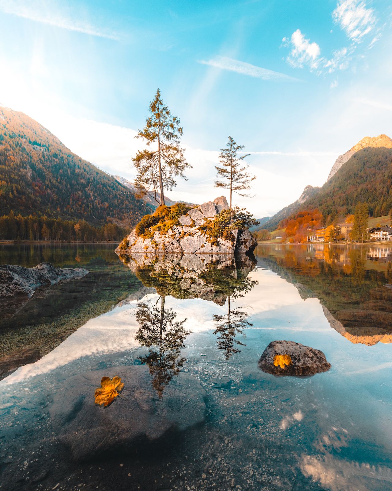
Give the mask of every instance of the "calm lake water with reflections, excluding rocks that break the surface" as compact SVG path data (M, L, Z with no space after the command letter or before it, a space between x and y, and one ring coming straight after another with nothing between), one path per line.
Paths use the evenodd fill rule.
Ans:
M392 490L392 246L266 245L236 262L112 249L0 246L4 264L90 272L0 321L0 363L39 353L0 381L0 490ZM279 339L331 369L262 372ZM105 409L102 374L125 384Z

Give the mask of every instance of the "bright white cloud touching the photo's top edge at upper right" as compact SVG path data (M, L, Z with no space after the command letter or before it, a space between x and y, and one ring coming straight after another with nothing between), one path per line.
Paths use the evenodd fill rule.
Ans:
M361 42L377 22L374 10L368 8L365 1L358 0L341 0L333 11L332 18L355 43Z

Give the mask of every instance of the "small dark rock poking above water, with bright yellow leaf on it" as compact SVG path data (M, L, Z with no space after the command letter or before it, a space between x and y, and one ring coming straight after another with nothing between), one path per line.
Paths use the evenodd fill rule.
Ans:
M281 368L274 365L276 355L290 355L291 363ZM263 372L272 375L315 375L326 372L331 364L324 353L294 341L272 341L264 350L259 360Z

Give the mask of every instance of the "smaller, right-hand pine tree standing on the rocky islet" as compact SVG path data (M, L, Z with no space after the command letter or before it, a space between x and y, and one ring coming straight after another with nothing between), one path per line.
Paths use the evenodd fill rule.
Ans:
M215 166L218 171L218 180L215 181L215 187L230 190L230 210L232 208L231 197L233 191L240 196L249 196L249 194L240 191L249 190L250 183L256 179L256 176L251 176L246 172L249 165L242 164L242 161L249 157L250 154L238 156L238 152L241 152L243 148L245 148L244 145L237 145L233 138L229 136L226 148L221 148L219 155L219 161L222 166Z

